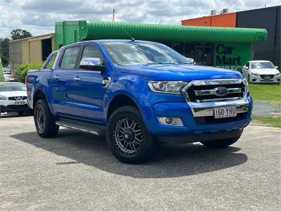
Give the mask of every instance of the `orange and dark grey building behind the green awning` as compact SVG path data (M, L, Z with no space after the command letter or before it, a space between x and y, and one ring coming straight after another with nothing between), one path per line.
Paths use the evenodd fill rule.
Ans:
M228 13L226 9L222 13L218 13L218 15L216 15L216 11L211 11L211 13L213 15L182 20L181 24L204 27L264 28L268 32L268 39L262 44L253 44L252 59L270 60L274 65L281 66L281 6L240 11L237 13ZM195 47L193 50L201 52L201 54L197 53L200 54L198 57L201 59L206 54L208 57L208 53L212 47L212 45L205 44L202 47Z

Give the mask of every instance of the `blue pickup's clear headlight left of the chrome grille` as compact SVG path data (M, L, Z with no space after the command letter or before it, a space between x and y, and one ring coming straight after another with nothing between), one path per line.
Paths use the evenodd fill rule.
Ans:
M151 91L169 94L181 94L181 87L188 84L188 82L167 82L167 81L151 81L148 82L148 87Z

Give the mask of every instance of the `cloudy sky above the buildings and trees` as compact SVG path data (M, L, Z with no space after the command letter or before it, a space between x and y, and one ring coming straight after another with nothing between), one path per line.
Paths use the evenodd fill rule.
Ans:
M280 5L280 0L0 0L0 37L20 28L33 35L55 31L55 21L104 20L181 24L207 16L211 10L230 12Z

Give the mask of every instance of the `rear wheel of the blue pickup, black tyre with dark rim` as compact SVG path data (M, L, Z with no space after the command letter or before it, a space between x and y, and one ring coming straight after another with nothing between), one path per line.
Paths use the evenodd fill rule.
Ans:
M34 108L34 123L40 137L51 138L58 134L59 126L55 120L46 99L39 99Z

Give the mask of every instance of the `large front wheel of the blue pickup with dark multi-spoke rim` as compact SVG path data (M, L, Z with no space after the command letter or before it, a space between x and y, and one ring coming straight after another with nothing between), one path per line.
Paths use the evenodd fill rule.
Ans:
M145 127L141 113L131 106L117 108L107 123L107 143L124 163L138 164L155 155L156 140Z

